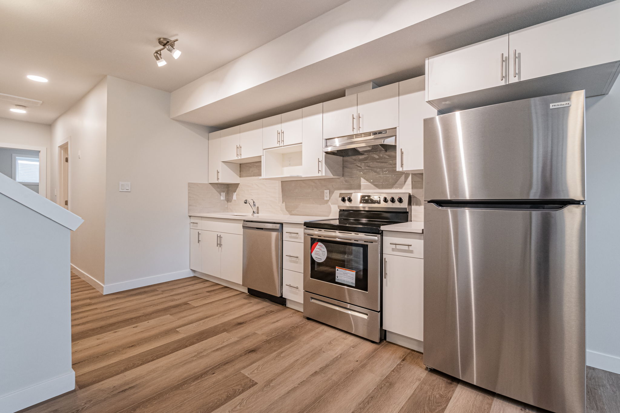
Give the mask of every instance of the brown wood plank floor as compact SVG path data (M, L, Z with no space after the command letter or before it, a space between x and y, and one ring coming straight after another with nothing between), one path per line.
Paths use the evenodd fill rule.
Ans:
M24 412L541 412L198 277L104 296L71 274L71 297L78 389ZM588 412L620 412L620 375L588 368Z

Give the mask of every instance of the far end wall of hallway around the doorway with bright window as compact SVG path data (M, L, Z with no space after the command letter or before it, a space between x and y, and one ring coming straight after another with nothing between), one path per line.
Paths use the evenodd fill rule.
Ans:
M0 147L2 144L15 146L45 147L47 164L47 198L52 199L50 188L50 154L51 154L51 126L48 124L18 121L0 118Z

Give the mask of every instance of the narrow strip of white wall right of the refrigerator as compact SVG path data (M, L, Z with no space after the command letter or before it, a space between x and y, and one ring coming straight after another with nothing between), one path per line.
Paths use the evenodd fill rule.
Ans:
M588 365L620 374L620 82L586 99Z

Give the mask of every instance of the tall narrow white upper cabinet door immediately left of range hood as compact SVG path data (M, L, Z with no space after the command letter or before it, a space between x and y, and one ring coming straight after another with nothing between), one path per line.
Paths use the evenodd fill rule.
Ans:
M301 110L301 163L303 176L323 175L323 104L303 108ZM302 231L303 234L303 231Z

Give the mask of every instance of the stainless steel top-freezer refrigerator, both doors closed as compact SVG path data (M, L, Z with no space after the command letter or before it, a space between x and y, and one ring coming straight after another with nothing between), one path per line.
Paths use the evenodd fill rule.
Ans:
M584 92L424 120L424 363L585 411Z

